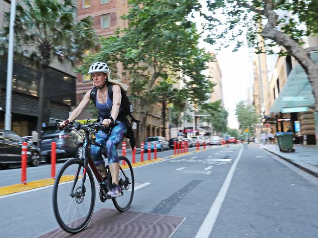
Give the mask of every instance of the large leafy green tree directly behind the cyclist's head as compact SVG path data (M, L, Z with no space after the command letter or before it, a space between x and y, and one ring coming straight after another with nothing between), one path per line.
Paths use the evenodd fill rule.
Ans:
M197 0L130 0L129 4L123 17L128 27L104 39L100 53L85 62L107 59L109 65L121 62L129 70L131 94L142 114L143 139L152 89L169 77L182 82L190 101L205 101L213 85L201 72L211 56L197 47L195 23L188 20L200 7Z

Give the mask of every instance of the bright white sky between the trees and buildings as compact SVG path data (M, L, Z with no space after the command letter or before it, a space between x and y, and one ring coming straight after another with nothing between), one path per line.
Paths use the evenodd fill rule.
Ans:
M205 4L204 0L200 0L200 2L202 5ZM222 16L219 17L222 18ZM203 19L198 15L195 15L195 19L197 28L200 31L202 29L201 23ZM217 61L222 73L224 107L229 113L228 127L238 129L239 125L235 116L236 104L248 99L247 87L250 87L251 90L250 77L252 77L252 65L251 62L248 61L248 53L251 49L248 49L247 46L242 46L237 52L232 52L233 47L230 46L229 48L222 48L220 51L217 51L216 48L218 48L218 46L212 46L203 41L206 35L207 32L202 34L199 47L217 54ZM233 45L234 44L233 42Z

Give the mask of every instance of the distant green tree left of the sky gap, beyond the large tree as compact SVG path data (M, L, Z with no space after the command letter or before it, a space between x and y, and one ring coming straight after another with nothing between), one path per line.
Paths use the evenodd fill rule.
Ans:
M202 120L212 123L215 131L222 133L226 131L228 112L221 106L220 100L213 103L202 104L199 113L211 114L211 116L203 117Z

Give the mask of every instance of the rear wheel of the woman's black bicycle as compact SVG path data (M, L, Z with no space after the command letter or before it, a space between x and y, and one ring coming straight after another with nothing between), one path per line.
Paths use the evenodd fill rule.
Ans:
M114 197L112 200L116 209L120 212L123 212L129 209L132 202L132 198L134 196L135 178L129 160L124 156L120 156L119 160L120 169L118 184L122 188L122 195ZM123 161L125 162L125 165L122 165Z

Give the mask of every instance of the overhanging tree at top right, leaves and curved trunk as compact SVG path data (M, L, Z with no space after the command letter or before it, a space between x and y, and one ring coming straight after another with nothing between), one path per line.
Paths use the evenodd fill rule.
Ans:
M215 43L217 39L229 37L237 41L237 49L244 43L239 36L246 29L249 46L262 46L265 43L266 52L269 53L273 53L272 46L283 46L308 75L318 111L318 66L301 47L304 37L318 33L317 0L210 0L208 7L211 14L205 16L209 21L206 29L211 34L207 42ZM226 22L215 18L219 9L227 17ZM220 24L224 30L218 32ZM267 41L260 43L259 35Z

